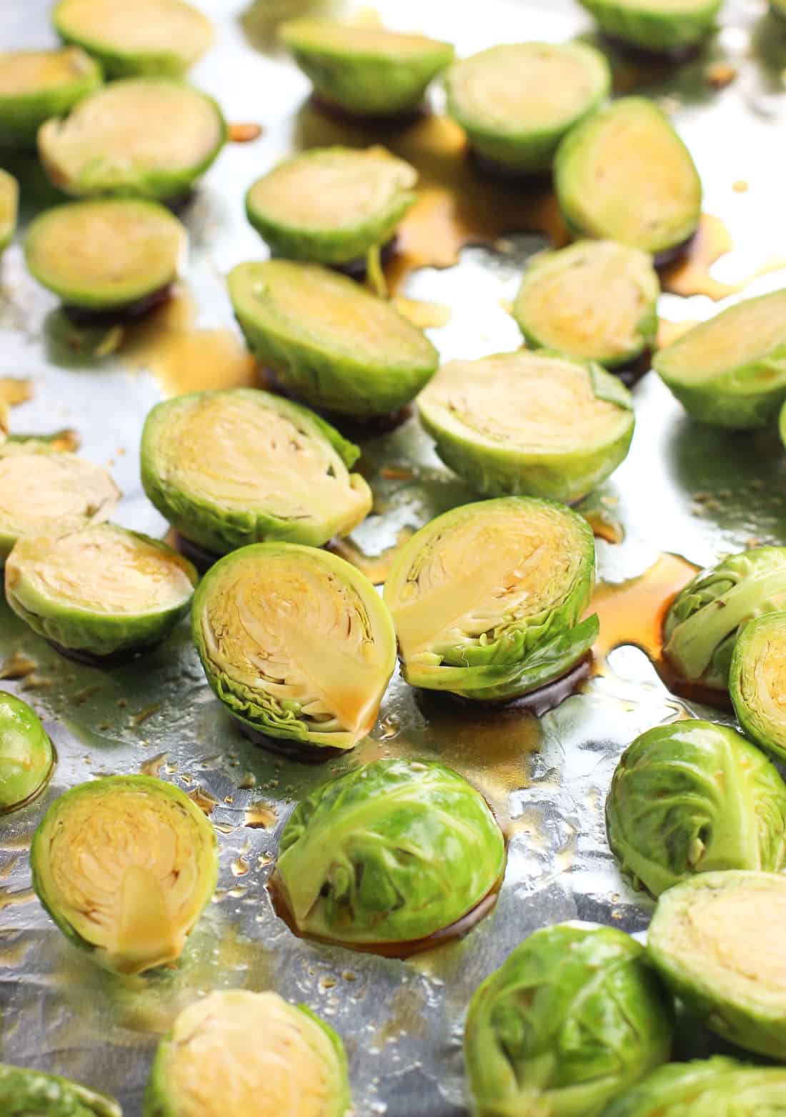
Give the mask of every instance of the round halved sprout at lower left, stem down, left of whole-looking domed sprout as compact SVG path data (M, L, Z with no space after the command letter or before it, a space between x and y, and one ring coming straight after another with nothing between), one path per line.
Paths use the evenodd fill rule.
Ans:
M174 962L218 879L215 831L147 775L102 776L51 804L30 847L32 887L60 930L106 970Z

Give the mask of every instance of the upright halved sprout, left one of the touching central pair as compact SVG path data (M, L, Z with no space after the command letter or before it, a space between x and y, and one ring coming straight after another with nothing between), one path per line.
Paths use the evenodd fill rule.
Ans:
M348 562L296 543L241 547L204 575L191 615L208 682L253 734L352 748L372 729L395 634Z

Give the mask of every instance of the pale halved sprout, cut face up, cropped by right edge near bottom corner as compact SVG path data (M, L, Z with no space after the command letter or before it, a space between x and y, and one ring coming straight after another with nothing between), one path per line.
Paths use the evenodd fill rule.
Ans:
M785 919L780 873L702 872L663 892L648 937L661 977L710 1031L782 1061Z

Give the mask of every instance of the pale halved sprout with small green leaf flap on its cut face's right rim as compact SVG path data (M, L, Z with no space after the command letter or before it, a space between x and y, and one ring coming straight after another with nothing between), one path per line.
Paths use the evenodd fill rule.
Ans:
M616 376L548 350L451 361L418 411L439 456L478 493L564 502L616 469L634 424Z

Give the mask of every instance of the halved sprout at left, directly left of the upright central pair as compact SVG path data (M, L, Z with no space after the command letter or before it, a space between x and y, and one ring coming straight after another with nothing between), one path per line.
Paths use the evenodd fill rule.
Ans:
M116 524L22 536L6 562L6 598L74 658L157 643L185 615L196 571L148 535Z

